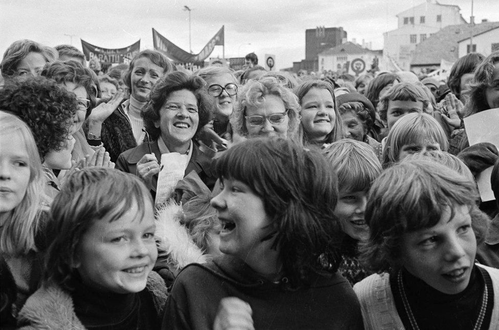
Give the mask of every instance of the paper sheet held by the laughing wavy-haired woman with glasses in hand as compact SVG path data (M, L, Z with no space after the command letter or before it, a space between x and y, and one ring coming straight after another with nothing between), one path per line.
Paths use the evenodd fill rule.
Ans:
M167 202L172 197L178 181L184 178L188 161L187 155L180 155L178 152L161 155L161 170L157 179L156 201L154 202L156 206Z

